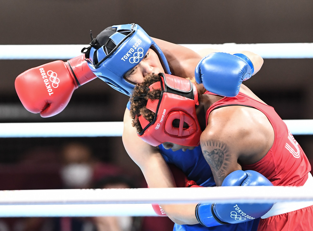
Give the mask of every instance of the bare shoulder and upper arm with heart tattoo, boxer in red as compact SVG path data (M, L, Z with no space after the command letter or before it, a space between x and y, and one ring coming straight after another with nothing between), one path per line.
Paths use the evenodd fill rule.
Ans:
M242 164L263 158L274 141L266 116L255 108L228 106L210 113L200 137L203 156L211 167L217 186Z

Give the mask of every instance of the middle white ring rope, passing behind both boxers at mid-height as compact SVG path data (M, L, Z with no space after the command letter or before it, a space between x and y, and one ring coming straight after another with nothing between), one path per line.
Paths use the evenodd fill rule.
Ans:
M284 120L293 135L313 135L313 119ZM121 136L123 122L0 123L0 138Z

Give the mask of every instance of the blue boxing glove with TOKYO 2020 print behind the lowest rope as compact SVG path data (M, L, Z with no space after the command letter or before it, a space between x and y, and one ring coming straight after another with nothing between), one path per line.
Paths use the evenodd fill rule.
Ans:
M237 170L230 173L222 186L273 186L261 173L253 170ZM254 220L267 213L273 203L199 203L196 206L196 217L206 227L227 223L242 223Z

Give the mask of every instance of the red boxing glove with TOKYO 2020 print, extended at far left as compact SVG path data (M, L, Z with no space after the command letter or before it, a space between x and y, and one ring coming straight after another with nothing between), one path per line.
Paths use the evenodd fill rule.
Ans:
M95 78L83 54L23 72L15 79L15 90L29 112L51 117L63 111L75 89Z

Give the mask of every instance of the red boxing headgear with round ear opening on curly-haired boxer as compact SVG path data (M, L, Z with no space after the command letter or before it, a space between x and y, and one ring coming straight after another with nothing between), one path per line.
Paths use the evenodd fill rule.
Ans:
M160 73L160 82L150 85L161 88L159 100L148 100L146 108L155 113L150 123L142 115L138 117L143 130L139 137L152 146L171 142L183 146L198 146L202 133L196 114L198 92L195 84L185 78ZM173 126L179 120L179 126ZM184 124L188 126L184 126Z

